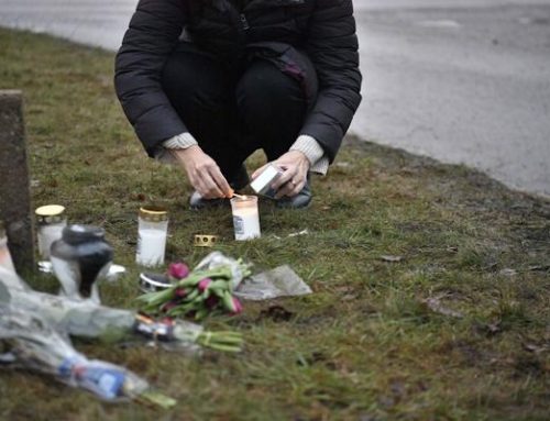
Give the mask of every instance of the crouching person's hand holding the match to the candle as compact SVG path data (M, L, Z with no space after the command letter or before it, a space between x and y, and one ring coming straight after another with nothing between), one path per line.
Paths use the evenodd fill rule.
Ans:
M176 159L183 164L189 182L205 199L231 197L233 190L221 174L216 162L205 154L200 146L194 145L186 149L173 149Z

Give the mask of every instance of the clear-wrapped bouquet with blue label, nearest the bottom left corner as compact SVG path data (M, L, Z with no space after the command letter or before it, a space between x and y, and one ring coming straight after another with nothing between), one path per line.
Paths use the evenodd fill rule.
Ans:
M101 399L134 399L162 408L176 402L150 388L130 370L78 353L68 337L30 312L0 304L0 367L31 369L50 375L73 387L91 391Z

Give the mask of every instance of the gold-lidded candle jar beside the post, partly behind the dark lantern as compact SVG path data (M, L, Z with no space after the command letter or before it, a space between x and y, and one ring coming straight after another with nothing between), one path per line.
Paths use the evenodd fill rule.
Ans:
M61 204L47 204L35 211L38 222L38 253L44 261L50 259L52 244L59 240L63 229L67 226L65 208Z

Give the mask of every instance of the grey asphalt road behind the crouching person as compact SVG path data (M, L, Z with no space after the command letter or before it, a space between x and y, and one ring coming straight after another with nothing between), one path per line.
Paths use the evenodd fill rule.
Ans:
M0 0L0 25L116 49L135 0ZM550 0L355 0L351 132L550 196Z

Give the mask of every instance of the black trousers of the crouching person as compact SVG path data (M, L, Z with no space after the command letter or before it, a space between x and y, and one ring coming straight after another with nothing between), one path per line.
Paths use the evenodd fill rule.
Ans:
M230 181L254 151L263 149L268 160L287 152L311 106L311 92L307 96L302 84L270 60L227 64L191 46L172 54L162 84L182 121Z

